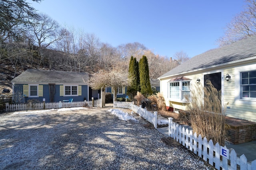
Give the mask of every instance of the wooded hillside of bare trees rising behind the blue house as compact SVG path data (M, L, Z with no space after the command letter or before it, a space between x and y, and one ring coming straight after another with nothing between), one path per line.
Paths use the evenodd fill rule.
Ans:
M128 72L130 58L140 61L145 55L152 79L180 64L138 42L113 47L94 33L62 27L47 14L36 13L25 0L0 0L0 8L4 20L0 21L0 83L4 87L11 88L10 81L28 68L93 74L118 66Z

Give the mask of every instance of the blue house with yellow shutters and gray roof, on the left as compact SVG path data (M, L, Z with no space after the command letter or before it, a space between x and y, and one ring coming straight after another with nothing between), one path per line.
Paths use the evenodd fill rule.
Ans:
M40 102L44 99L47 103L70 99L77 102L90 100L92 97L98 98L98 90L89 88L88 78L89 75L86 72L28 69L12 80L12 90L14 96L20 96L21 103L31 99Z

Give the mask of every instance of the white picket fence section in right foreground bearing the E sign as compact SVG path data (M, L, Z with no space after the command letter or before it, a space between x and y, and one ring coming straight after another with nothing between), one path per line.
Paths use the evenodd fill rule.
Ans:
M256 160L252 161L252 164L250 164L247 162L247 158L244 154L238 158L235 150L231 150L230 152L226 149L226 146L224 146L225 154L229 157L226 158L222 156L222 147L220 147L218 143L213 145L212 140L208 142L206 137L204 137L204 139L202 139L201 135L197 137L197 134L193 134L192 130L185 130L184 127L174 123L172 121L173 118L169 117L168 119L169 137L172 137L184 147L194 152L194 154L203 158L204 161L214 166L217 170L220 170L220 167L222 167L222 170L236 170L237 165L240 166L240 170L256 170ZM228 164L228 162L230 162L230 164Z

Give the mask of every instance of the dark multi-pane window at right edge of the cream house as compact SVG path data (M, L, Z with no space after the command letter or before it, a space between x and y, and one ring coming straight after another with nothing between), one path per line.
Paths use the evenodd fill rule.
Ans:
M240 98L256 98L256 71L240 73Z

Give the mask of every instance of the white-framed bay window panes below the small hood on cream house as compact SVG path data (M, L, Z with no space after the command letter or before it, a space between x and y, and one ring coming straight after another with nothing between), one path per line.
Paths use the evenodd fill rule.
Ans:
M190 96L190 81L170 82L169 98L185 100L186 95Z

